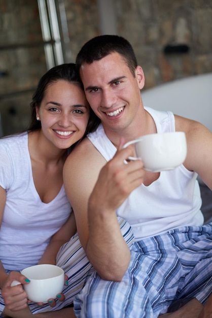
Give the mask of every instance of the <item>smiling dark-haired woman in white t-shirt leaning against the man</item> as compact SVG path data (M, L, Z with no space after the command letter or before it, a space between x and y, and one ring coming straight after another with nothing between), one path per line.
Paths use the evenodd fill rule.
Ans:
M0 139L0 315L14 318L37 316L32 312L54 311L72 303L82 288L82 276L84 279L92 271L77 236L62 246L76 232L74 213L63 186L63 164L70 147L98 124L75 65L63 64L49 70L40 79L30 105L28 130ZM85 267L79 277L70 265L66 271L65 264L72 258L67 251L70 245L72 251L82 252ZM63 267L69 284L76 282L70 289L66 280L65 302L63 294L57 295L56 303L49 300L45 306L27 300L22 285L29 281L19 271L42 263ZM22 284L11 287L13 280ZM60 310L61 318L67 315L75 316L73 308Z

